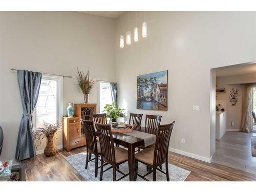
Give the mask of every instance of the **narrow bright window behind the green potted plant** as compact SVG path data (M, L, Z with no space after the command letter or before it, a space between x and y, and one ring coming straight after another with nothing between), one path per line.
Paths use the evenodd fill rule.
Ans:
M111 97L110 82L99 81L98 88L98 111L99 113L104 113L104 106L113 102Z

